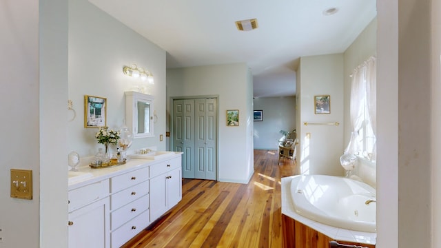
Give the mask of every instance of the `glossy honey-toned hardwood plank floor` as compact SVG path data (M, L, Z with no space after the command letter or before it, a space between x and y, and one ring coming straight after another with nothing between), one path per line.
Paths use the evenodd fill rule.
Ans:
M280 178L296 165L254 150L247 185L183 179L183 198L158 223L123 247L282 247Z

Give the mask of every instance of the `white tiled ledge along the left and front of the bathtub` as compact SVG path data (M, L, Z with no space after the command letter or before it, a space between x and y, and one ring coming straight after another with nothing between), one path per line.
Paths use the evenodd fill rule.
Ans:
M329 225L318 223L314 220L310 220L309 218L305 218L303 216L300 216L300 214L297 214L291 200L291 195L289 194L291 178L292 177L282 178L282 214L285 214L285 216L289 216L290 218L293 218L294 220L302 223L303 225L307 225L308 227L311 227L316 231L320 231L320 233L325 234L326 236L328 236L329 238L333 238L334 240L359 242L367 245L376 244L376 233L353 231L349 229L332 227Z

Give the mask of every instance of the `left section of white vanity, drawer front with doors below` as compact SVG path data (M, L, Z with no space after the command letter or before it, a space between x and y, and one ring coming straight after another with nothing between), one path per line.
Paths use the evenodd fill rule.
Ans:
M68 192L68 247L110 246L108 196L108 179Z

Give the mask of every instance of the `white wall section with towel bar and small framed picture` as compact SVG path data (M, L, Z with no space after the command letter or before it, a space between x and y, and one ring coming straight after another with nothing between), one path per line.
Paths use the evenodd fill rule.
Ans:
M343 54L300 58L301 84L300 173L342 176L343 154ZM331 113L314 114L314 96L331 96ZM340 123L340 125L303 125L303 123ZM299 132L300 130L300 132ZM309 136L307 134L310 134Z

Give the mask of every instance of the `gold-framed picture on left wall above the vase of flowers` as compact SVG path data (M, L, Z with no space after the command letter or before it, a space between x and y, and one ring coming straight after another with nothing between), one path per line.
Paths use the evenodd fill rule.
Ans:
M99 96L84 96L84 127L107 126L107 99Z

